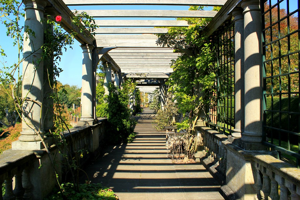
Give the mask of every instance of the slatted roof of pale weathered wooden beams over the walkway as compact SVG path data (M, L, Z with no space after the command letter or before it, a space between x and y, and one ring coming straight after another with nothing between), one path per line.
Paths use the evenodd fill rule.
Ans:
M155 34L167 33L168 30L165 27L169 26L188 26L187 21L175 18L213 18L217 14L216 11L209 10L159 10L158 6L167 5L171 8L183 5L223 6L226 2L226 0L63 1L70 10L85 11L95 18L96 24L100 26L95 31L98 51L102 49L99 58L102 56L101 60L112 63L115 70L120 69L124 77L135 79L166 79L173 72L170 63L180 53L175 53L172 47L158 46L158 37ZM107 5L143 5L151 6L152 9L107 10ZM80 6L80 9L77 9L77 6ZM153 9L153 6L158 9ZM166 20L166 18L170 18L170 20ZM105 49L109 51L105 51Z

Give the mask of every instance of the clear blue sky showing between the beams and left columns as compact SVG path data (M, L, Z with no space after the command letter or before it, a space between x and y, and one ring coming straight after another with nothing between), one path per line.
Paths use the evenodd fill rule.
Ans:
M272 0L273 3L274 0ZM277 0L275 0L277 2ZM275 2L274 1L274 2ZM284 0L285 2L286 0ZM284 3L283 2L283 3ZM297 7L297 3L295 0L290 0L290 5L294 4L293 7ZM286 4L286 3L285 3ZM93 9L103 9L103 10L187 10L188 6L130 6L130 5L120 5L120 6L70 6L70 9L77 9L77 10L93 10ZM211 7L205 8L205 10L211 10ZM107 18L95 18L95 19L107 19ZM114 19L129 19L129 18L114 18ZM132 19L132 18L131 18ZM143 18L143 19L164 19L164 20L172 20L172 18ZM20 24L23 24L21 22ZM0 45L4 49L7 57L2 58L0 57L1 62L6 62L4 64L12 65L14 61L17 60L17 49L13 47L12 40L6 36L6 29L3 24L0 24ZM77 85L81 87L81 77L82 77L82 49L79 46L76 40L72 45L73 49L67 48L67 52L63 52L61 56L61 62L59 66L64 70L61 72L60 77L58 80L63 84L69 85ZM0 66L2 67L2 66Z

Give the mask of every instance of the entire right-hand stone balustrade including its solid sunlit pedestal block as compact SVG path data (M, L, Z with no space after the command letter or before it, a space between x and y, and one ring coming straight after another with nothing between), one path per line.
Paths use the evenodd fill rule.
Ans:
M300 169L276 159L276 152L246 151L209 127L196 130L204 136L201 163L223 185L226 196L229 193L241 199L300 199Z

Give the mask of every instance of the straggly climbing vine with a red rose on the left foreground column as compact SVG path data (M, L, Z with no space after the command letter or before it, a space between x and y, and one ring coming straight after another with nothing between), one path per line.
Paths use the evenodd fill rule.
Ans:
M63 163L66 165L67 171L72 174L70 177L73 178L74 187L76 190L78 190L78 174L80 170L79 159L88 152L84 149L75 148L75 156L73 156L66 148L67 144L64 133L66 131L70 132L70 130L68 128L68 124L66 123L66 110L59 102L57 94L57 77L62 71L62 68L59 67L61 55L67 50L68 47L72 48L71 45L73 45L74 38L78 34L88 35L98 26L95 25L95 21L92 17L88 16L87 13L79 13L75 10L73 13L74 15L71 15L70 19L73 27L77 27L77 29L64 30L60 25L62 20L61 16L56 16L54 18L53 16L45 13L44 19L41 20L41 23L44 24L44 44L40 49L35 49L35 52L41 51L41 57L37 58L35 61L32 61L32 63L35 65L35 69L38 69L38 67L43 67L43 65L40 66L42 61L44 64L46 63L47 72L46 76L44 75L45 82L43 87L47 88L47 91L43 97L44 100L47 99L53 101L53 104L46 103L44 100L42 102L38 102L27 98L29 92L25 95L23 94L23 97L20 95L23 79L21 75L22 69L20 67L22 66L21 63L25 59L22 55L23 42L24 39L29 40L29 38L31 38L32 40L32 38L35 38L35 32L32 31L30 27L24 26L20 23L25 16L23 7L24 5L22 2L18 2L16 0L0 1L0 22L6 27L7 36L10 37L10 39L13 41L13 46L16 46L17 49L17 59L13 64L10 64L4 60L7 55L4 48L0 46L0 53L3 58L3 61L0 61L2 65L0 68L1 91L4 91L4 93L6 93L9 99L12 101L15 112L17 112L19 116L22 115L23 110L21 108L23 104L28 101L31 101L33 104L37 104L41 108L43 107L47 110L47 112L49 111L53 113L54 124L49 130L49 133L46 134L55 138L55 144L59 153L61 154L61 157L64 159ZM27 58L29 58L29 56ZM34 76L37 76L36 70L32 77ZM32 85L29 85L29 88L32 88ZM30 90L31 89L29 89L29 91ZM54 107L52 105L54 105ZM41 113L40 121L42 117L43 116ZM62 187L59 181L60 178L58 177L58 173L55 171L54 162L56 161L50 156L50 151L44 142L44 137L40 133L41 127L35 127L33 130L35 130L35 134L40 137L45 146L45 149L49 155L49 159L51 160L55 176L57 177L57 184L59 185L60 193L63 194L65 192L64 187ZM43 166L41 165L40 167Z

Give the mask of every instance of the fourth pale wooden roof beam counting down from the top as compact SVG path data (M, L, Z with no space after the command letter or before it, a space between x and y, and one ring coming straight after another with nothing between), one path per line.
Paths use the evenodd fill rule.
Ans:
M126 34L126 33L167 33L168 28L97 28L95 31L96 34Z

